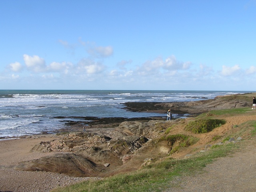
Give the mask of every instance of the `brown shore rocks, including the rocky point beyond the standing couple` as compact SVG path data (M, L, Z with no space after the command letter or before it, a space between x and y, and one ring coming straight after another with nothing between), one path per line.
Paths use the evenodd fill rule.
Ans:
M214 109L248 107L251 102L237 95L195 102L147 104L148 106L145 106L146 104L140 103L140 110L165 112L171 108L172 113L198 114ZM127 110L137 109L136 104L127 104ZM159 118L149 121L129 120L118 124L114 122L114 125L101 125L100 130L89 132L93 130L92 127L86 129L86 132L71 132L62 139L38 143L31 152L45 153L46 156L20 162L14 168L59 172L70 176L109 176L136 170L149 164L154 158L166 157L172 149L179 147L180 140L170 142L168 139L160 139L173 123L182 124L180 119L170 122ZM49 152L51 155L48 155Z

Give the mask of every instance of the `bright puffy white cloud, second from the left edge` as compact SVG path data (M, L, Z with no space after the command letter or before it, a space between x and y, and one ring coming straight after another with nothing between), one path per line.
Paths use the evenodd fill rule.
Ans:
M33 72L44 72L46 71L46 65L43 58L40 58L37 55L29 56L23 55L24 62L28 68L28 70L32 70Z

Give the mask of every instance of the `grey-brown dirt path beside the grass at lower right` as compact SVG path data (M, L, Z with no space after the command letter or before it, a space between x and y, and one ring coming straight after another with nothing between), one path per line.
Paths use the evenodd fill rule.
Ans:
M177 177L177 187L165 192L252 192L256 191L256 141L230 156L218 158L195 176Z

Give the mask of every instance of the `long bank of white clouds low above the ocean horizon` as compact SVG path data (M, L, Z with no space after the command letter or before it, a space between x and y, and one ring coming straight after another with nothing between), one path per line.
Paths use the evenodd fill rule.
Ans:
M75 47L65 41L60 41L60 44L68 49ZM24 54L22 62L12 62L6 66L7 71L0 74L0 79L23 83L29 81L38 85L45 82L51 83L52 87L66 89L72 89L75 83L80 89L111 89L113 86L119 89L192 90L199 86L207 90L210 86L208 89L214 90L216 85L228 86L230 81L238 82L239 78L249 78L256 73L255 66L242 69L238 64L223 65L222 69L214 70L205 64L179 61L174 55L157 57L136 65L132 59L109 65L106 63L113 56L112 46L96 46L82 41L80 45L88 55L76 63L52 61L48 64L39 55Z

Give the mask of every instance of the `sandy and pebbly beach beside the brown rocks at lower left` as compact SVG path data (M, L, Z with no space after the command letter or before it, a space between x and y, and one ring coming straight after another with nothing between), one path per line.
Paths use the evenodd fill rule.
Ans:
M88 178L75 178L52 172L28 172L8 168L24 160L32 160L45 156L46 154L44 153L31 152L30 150L41 141L49 141L60 137L49 134L0 140L0 191L48 192L57 186L65 186L87 180ZM48 155L50 154L48 153Z

